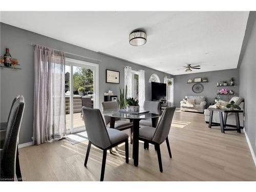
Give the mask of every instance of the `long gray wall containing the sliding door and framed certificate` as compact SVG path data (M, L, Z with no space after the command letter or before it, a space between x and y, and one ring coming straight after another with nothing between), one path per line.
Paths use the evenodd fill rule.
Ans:
M145 99L151 99L150 83L148 79L156 73L161 82L164 76L169 74L146 68L134 63L124 61L111 56L103 55L88 49L83 49L63 41L47 36L39 35L30 31L16 28L1 23L1 55L5 54L5 47L10 48L12 57L17 58L22 70L1 69L1 122L6 121L10 110L12 99L17 94L25 97L26 107L22 126L20 127L20 143L32 141L33 133L33 90L34 90L34 48L31 42L53 49L62 50L76 55L86 56L101 60L99 64L99 104L103 101L103 93L109 90L119 95L119 87L124 87L124 66L131 66L134 69L145 70ZM127 42L128 43L128 42ZM66 54L66 57L92 61L83 57ZM143 57L143 55L142 55ZM105 69L120 71L120 84L105 83Z

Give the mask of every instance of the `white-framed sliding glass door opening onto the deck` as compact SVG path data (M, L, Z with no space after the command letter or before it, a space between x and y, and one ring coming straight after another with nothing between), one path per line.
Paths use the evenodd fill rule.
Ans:
M66 58L67 133L85 131L81 108L98 108L98 65Z

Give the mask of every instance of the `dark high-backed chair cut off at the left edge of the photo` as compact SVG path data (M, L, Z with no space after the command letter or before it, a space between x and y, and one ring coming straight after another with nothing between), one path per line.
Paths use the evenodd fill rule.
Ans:
M18 96L12 105L7 122L3 148L0 149L1 180L14 181L15 173L18 181L22 180L18 161L18 135L25 108L24 97Z

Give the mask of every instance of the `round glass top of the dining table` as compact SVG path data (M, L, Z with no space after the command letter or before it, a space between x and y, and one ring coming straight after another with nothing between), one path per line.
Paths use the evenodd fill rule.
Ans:
M143 113L143 114L130 114L130 113L122 113L119 112L117 109L113 110L106 110L102 112L102 115L115 117L115 118L124 118L124 119L149 119L149 118L156 118L161 117L162 111L150 112L150 113Z

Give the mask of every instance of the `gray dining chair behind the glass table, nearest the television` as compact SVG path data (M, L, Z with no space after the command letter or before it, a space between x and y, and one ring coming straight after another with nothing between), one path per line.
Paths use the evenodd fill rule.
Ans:
M160 110L159 101L144 101L143 110L150 113L158 113ZM140 126L152 126L152 119L141 119Z

